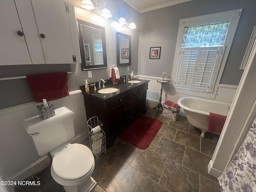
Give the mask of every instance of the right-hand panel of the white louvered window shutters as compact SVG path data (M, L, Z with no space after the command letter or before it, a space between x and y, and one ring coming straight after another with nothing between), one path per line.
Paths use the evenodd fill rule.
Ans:
M192 90L210 92L210 80L214 71L218 52L221 53L222 47L223 46L212 46L200 48ZM221 50L219 50L219 48Z

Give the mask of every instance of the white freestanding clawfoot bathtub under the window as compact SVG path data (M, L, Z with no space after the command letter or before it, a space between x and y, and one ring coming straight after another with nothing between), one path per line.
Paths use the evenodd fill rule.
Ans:
M188 122L201 129L201 137L208 131L209 112L227 116L230 108L228 103L194 97L180 98L178 105L184 109Z

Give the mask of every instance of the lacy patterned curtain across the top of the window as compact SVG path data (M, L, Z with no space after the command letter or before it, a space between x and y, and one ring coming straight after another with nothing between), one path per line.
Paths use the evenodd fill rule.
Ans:
M229 21L189 26L184 29L182 47L222 46Z

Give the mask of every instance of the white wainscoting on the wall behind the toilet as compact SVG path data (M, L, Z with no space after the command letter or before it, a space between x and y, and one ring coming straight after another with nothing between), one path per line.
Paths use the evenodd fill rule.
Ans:
M54 108L66 106L74 112L75 138L80 142L88 136L84 98L80 90L50 102ZM34 142L22 126L22 121L38 115L36 106L29 102L0 110L0 169L8 180L21 181L49 163L48 156L38 156Z

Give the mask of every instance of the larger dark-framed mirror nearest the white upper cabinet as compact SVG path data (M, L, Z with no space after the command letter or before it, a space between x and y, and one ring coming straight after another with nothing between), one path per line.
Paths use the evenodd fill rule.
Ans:
M82 70L107 68L105 28L77 19Z

